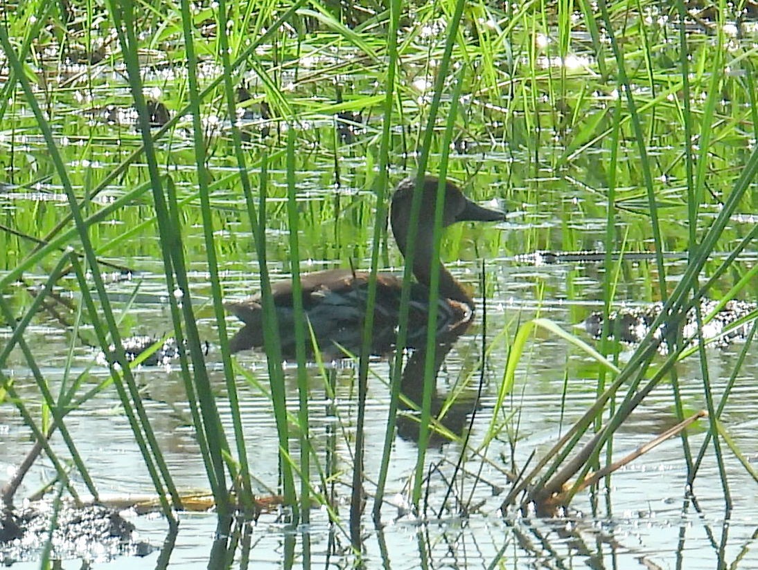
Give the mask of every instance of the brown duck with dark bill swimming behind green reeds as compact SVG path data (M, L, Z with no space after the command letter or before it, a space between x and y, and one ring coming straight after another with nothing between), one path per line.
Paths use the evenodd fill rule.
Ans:
M434 255L434 211L440 180L424 176L421 184L415 178L403 179L393 192L390 204L390 226L400 253L405 257L407 247L415 241L412 273L415 282L410 289L409 324L406 347L425 347L429 314L429 285L431 259ZM421 192L421 211L412 223L411 204L415 192ZM461 189L445 181L443 227L454 223L498 222L505 213L490 210L469 200ZM324 360L339 360L349 354L359 354L362 327L366 314L369 273L352 269L327 269L301 276L302 307L313 338ZM474 316L474 300L461 283L440 263L439 294L437 296L437 339L458 338ZM393 273L377 273L377 296L374 305L374 327L371 354L383 356L396 348L396 334L402 278ZM295 314L291 281L271 286L280 332L281 354L285 360L295 357ZM230 338L232 353L251 348L263 348L263 307L260 294L243 301L225 305L227 310L244 323ZM306 329L306 353L314 356L313 343Z

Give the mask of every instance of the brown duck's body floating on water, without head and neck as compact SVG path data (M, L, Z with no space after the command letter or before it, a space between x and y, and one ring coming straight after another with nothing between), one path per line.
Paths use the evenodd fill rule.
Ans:
M327 359L345 356L340 347L359 354L368 297L368 273L349 269L330 269L301 277L302 306L319 350ZM371 354L387 354L396 344L396 330L402 291L402 279L391 273L377 276L377 299L374 305L374 327ZM276 307L282 356L295 356L295 315L292 282L280 282L271 290ZM437 302L437 336L460 334L471 321L472 311L459 301L440 299ZM426 341L429 293L418 283L411 285L409 329L406 345L422 346ZM227 304L237 318L245 323L230 341L232 352L263 346L263 310L260 296ZM313 354L310 331L306 329L306 352Z

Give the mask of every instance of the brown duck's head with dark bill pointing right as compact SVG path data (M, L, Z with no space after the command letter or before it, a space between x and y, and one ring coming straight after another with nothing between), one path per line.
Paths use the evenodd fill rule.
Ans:
M418 221L412 224L411 204L413 194L416 188L415 178L406 178L397 185L397 189L392 198L392 210L390 212L390 223L392 232L401 249L404 249L409 228L413 225L415 232L410 235L421 237L424 232L431 235L434 229L434 209L437 206L437 188L440 180L435 176L425 176L424 183L421 186L421 211L418 214ZM497 210L489 210L481 207L466 198L461 189L453 182L445 182L445 204L442 215L442 226L450 226L456 222L500 222L505 220L505 213ZM427 238L429 239L429 238ZM418 245L418 244L417 244Z

